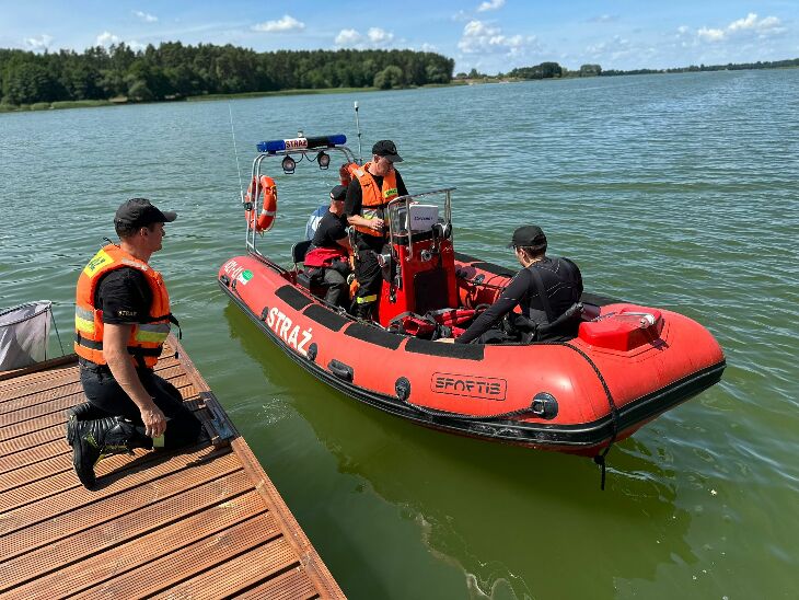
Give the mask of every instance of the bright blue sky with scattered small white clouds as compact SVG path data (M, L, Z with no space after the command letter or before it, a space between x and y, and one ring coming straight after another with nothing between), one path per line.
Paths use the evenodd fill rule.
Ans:
M410 48L456 71L555 60L577 69L799 58L799 0L0 0L0 47L180 41L277 49Z

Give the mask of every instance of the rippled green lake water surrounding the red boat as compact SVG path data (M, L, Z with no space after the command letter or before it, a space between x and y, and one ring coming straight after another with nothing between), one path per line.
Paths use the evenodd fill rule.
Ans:
M588 459L428 430L335 392L218 288L244 252L231 140L397 142L412 193L455 186L455 249L513 267L535 222L588 290L674 310L720 384ZM274 161L273 171L277 171ZM50 299L126 198L180 212L152 264L184 345L351 598L795 598L799 587L799 69L0 115L0 307ZM337 182L276 175L289 263ZM57 344L56 344L57 346Z

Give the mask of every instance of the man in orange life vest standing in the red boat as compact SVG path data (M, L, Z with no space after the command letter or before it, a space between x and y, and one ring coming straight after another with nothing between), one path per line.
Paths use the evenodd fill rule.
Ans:
M361 319L377 319L374 308L383 281L378 254L383 251L387 234L385 208L391 200L408 193L394 169L394 163L402 161L393 141L380 140L372 147L372 160L352 171L347 188L344 214L356 229L357 240L355 315Z

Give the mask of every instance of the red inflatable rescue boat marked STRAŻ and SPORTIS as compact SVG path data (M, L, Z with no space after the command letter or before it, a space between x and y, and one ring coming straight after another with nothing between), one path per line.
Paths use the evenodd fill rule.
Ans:
M302 267L257 251L262 162L320 164L344 136L258 145L244 208L247 253L227 261L220 287L271 342L313 376L372 406L437 429L561 452L600 455L721 378L725 358L702 325L681 314L586 293L576 338L533 344L439 344L490 304L513 275L454 252L452 188L393 200L379 322L325 304ZM315 157L315 158L312 158ZM291 162L293 166L299 160ZM329 161L329 157L327 159ZM343 170L343 177L346 173ZM271 180L269 180L271 181ZM271 192L275 189L266 189ZM274 198L273 198L274 199ZM277 210L276 203L271 210Z

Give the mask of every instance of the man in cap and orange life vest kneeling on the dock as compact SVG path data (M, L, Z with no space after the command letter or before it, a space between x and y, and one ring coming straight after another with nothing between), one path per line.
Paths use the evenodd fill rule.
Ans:
M200 436L181 393L154 373L177 320L161 274L148 261L161 250L164 223L176 217L144 198L127 200L114 217L119 245L101 249L78 278L74 351L89 402L69 411L67 441L86 488L105 455L177 448Z

